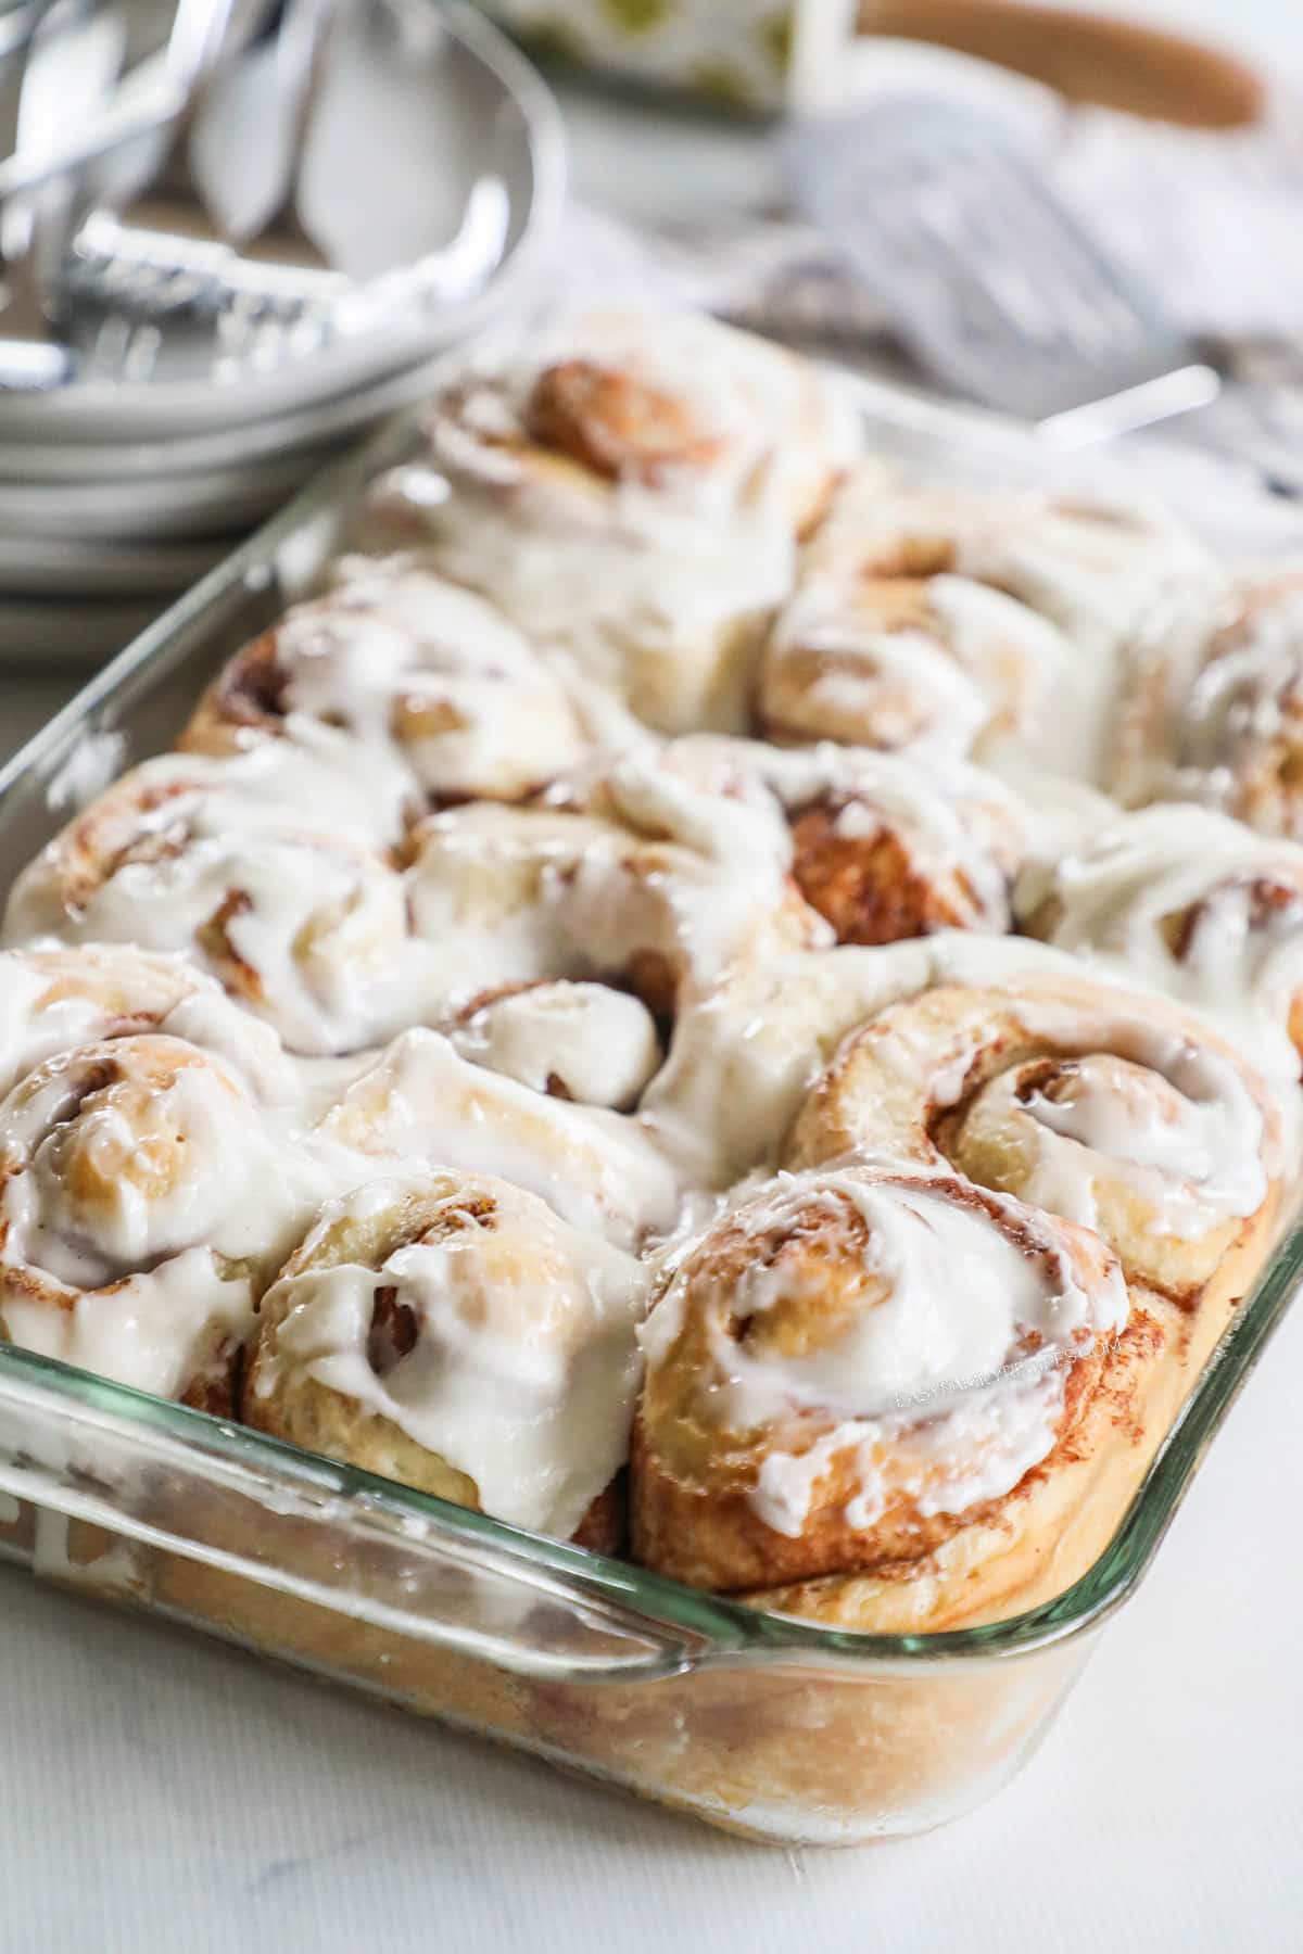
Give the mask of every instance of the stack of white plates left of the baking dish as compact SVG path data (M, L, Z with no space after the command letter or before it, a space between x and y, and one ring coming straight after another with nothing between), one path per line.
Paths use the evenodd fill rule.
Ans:
M350 20L348 92L305 154L301 207L352 201L354 264L373 223L377 264L404 258L408 291L387 270L399 303L324 332L78 301L72 377L0 391L8 662L117 651L336 447L430 391L549 234L561 125L529 64L436 0L367 0Z

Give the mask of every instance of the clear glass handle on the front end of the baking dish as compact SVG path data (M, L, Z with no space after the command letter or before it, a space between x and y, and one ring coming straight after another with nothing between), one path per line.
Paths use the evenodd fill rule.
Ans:
M699 1628L651 1618L619 1598L617 1563L18 1350L0 1350L0 1489L82 1522L55 1551L90 1587L96 1542L104 1585L141 1598L160 1555L182 1555L514 1675L670 1677L719 1655L721 1628L740 1639L707 1596ZM72 1577L41 1569L39 1526L35 1561Z

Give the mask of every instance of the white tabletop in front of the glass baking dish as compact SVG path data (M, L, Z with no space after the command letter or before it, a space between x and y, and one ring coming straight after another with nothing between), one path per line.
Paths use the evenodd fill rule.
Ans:
M1293 0L1147 12L1303 68ZM0 686L0 744L66 692ZM1301 1391L1303 1309L1024 1776L862 1852L744 1847L4 1569L0 1954L1297 1954Z

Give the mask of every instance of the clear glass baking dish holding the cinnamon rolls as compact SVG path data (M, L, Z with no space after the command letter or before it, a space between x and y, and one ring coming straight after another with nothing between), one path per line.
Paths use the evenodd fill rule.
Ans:
M877 385L863 399L875 442L924 473L1043 475L1008 424ZM170 743L412 442L395 424L328 469L0 772L6 881L78 799ZM1057 1598L990 1626L862 1635L760 1614L18 1348L0 1348L0 1551L742 1835L916 1833L1045 1735L1301 1278L1295 1231L1102 1551L1076 1542Z

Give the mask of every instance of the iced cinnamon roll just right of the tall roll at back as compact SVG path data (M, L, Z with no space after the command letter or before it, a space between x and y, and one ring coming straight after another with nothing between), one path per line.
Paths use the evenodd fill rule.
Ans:
M1020 492L885 492L852 477L760 660L781 741L990 758L1092 778L1112 653L1196 545L1137 512Z

